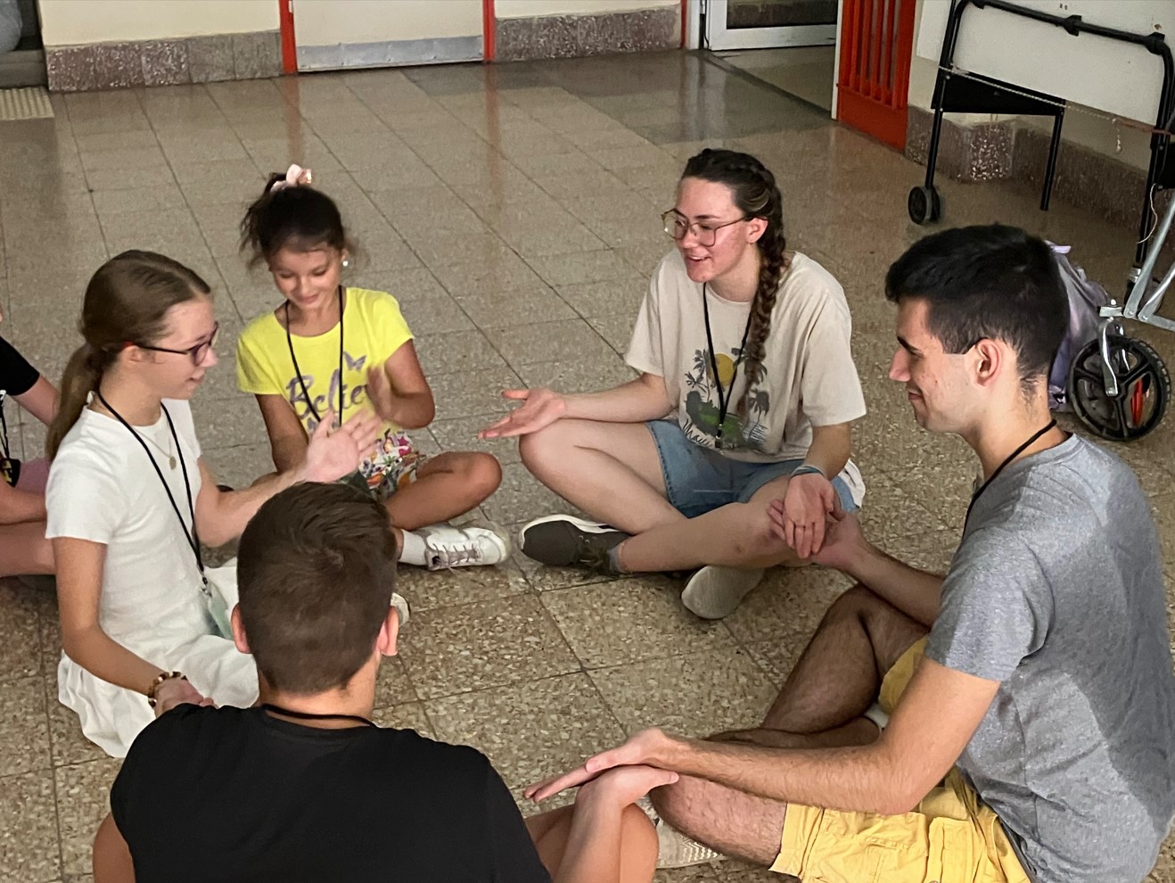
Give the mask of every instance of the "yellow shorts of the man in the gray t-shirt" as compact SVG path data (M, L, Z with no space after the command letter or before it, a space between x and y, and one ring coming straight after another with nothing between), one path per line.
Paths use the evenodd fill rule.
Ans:
M924 638L886 673L887 714L925 649ZM995 812L958 769L900 816L788 804L771 870L819 883L1028 883Z

